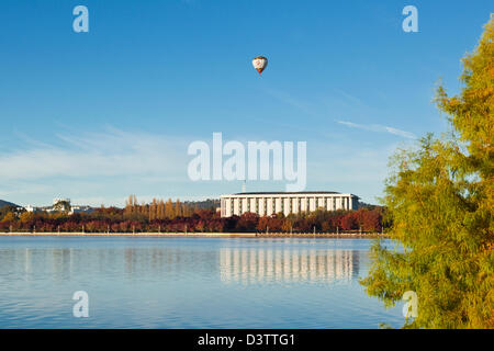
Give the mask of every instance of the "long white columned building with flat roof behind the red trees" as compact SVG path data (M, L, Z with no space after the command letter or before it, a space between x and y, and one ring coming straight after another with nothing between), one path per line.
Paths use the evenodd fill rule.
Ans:
M221 196L221 212L222 217L239 216L246 212L257 213L259 216L282 212L288 216L318 208L357 210L358 200L357 195L332 191L238 193Z

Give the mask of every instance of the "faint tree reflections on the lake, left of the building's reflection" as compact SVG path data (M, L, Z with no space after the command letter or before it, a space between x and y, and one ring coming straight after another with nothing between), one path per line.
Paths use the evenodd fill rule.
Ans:
M179 248L111 249L15 249L0 254L0 274L13 272L26 280L32 274L47 274L55 281L77 274L143 276L181 276L217 270L217 252Z

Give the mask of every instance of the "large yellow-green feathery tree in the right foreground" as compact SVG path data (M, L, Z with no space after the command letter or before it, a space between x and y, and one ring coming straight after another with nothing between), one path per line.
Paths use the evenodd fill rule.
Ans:
M463 67L459 95L437 91L449 135L392 159L383 201L396 246L374 242L361 281L386 306L416 292L404 327L494 328L494 20Z

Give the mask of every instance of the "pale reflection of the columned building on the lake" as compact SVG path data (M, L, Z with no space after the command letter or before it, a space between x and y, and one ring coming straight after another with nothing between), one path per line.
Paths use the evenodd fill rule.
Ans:
M224 282L333 282L359 274L355 250L231 249L220 251Z

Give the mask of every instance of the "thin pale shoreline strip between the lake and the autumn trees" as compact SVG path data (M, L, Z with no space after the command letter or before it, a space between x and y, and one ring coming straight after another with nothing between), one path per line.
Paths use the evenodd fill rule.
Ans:
M0 237L209 237L209 238L359 238L375 239L388 238L383 234L360 234L360 233L317 233L317 234L290 234L290 233L77 233L77 231L50 231L50 233L0 233Z

